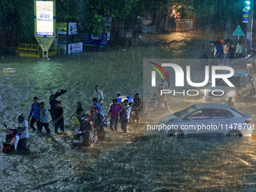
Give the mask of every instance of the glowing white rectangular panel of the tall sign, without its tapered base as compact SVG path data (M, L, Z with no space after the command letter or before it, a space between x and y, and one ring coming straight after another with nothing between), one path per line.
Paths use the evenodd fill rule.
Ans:
M36 1L36 35L54 35L53 2Z

